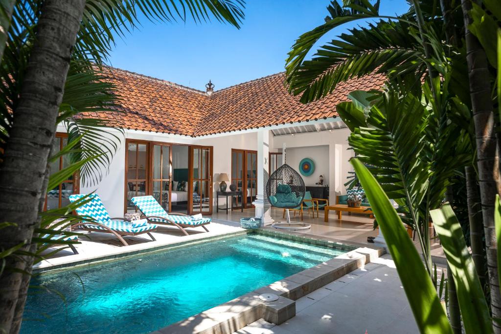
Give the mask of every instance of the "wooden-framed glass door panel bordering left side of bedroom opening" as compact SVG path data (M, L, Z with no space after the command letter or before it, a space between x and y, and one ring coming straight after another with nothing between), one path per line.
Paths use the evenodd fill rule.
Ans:
M172 172L171 161L172 152L170 145L153 144L152 157L152 189L153 197L164 208L170 212L170 191Z

